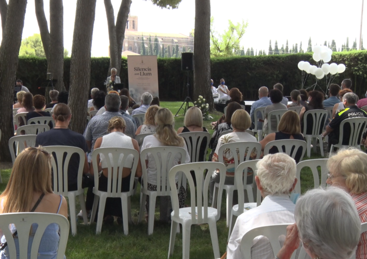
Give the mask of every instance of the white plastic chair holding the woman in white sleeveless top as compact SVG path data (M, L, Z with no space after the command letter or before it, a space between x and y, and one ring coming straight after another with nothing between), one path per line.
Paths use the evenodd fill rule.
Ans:
M107 163L108 169L108 188L107 192L99 191L99 175L98 175L98 167L97 167L97 155L103 154L105 157L105 161ZM122 159L119 160L120 156L123 155ZM121 185L122 185L122 168L125 164L126 158L129 155L134 156L134 163L131 169L130 175L130 190L128 192L121 192ZM108 159L110 158L110 159ZM112 160L112 163L111 163ZM97 227L95 230L96 234L101 233L102 229L102 220L105 211L106 199L108 197L112 198L121 198L121 205L122 205L122 220L123 220L123 227L124 227L124 234L129 234L129 224L128 221L131 221L131 213L130 213L130 196L133 195L133 187L134 187L134 177L137 171L139 161L139 153L134 149L125 149L125 148L99 148L93 150L92 153L92 163L93 163L93 170L94 170L94 203L92 209L92 216L91 222L94 222L94 217L98 208L98 219L97 219ZM112 167L114 167L114 172L112 172ZM118 168L118 171L117 171ZM117 181L117 185L116 185ZM112 187L112 189L111 189ZM99 201L99 203L98 203ZM99 205L98 205L99 204Z

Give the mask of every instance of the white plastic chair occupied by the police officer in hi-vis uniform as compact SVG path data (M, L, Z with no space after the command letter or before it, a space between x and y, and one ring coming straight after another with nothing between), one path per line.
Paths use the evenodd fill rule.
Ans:
M350 126L350 136L348 145L343 145L344 138L344 125L349 124ZM349 118L345 119L341 122L339 126L339 142L338 144L331 145L329 156L331 156L334 148L347 148L347 147L355 147L357 149L361 149L360 143L362 140L362 135L367 126L367 118Z

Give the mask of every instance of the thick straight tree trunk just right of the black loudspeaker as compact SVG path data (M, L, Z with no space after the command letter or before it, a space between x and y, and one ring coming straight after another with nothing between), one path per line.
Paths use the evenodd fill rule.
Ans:
M194 99L202 95L214 108L210 89L210 0L195 0Z

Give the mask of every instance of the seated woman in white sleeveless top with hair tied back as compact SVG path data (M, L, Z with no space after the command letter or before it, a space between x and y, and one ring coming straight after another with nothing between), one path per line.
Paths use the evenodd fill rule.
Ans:
M128 148L135 149L139 152L139 145L135 139L124 134L125 130L125 120L119 117L113 117L108 122L107 135L98 138L95 141L94 149L97 148ZM108 159L108 158L107 158ZM111 159L112 165L112 174L114 170L118 170L118 165L114 165L114 161ZM133 167L134 157L129 155L122 169L122 183L121 183L121 192L128 192L130 190L130 177L131 177L131 168ZM106 157L104 155L97 155L97 165L98 172L103 171L99 177L99 186L98 190L102 192L107 192L108 190L108 163L106 162ZM91 164L91 174L94 173L93 165ZM140 158L138 161L138 167L135 176L140 177L142 175ZM113 179L112 184L116 184L117 179ZM121 207L121 198L107 198L106 206L104 211L104 221L105 222L113 222L114 218L112 216L117 216L117 222L122 222L122 207Z

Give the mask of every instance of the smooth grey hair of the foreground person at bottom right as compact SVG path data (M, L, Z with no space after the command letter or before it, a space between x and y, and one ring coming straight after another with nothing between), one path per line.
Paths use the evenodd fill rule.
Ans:
M322 259L346 259L361 236L361 219L353 199L337 187L319 188L302 195L296 204L299 237Z

